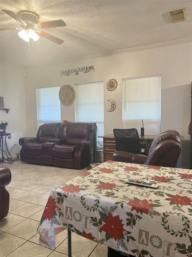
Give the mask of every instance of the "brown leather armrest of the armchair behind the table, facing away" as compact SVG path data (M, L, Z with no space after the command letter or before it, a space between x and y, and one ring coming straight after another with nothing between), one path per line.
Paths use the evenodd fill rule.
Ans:
M147 159L146 155L134 154L131 152L115 151L113 153L112 161L122 161L129 163L144 164Z

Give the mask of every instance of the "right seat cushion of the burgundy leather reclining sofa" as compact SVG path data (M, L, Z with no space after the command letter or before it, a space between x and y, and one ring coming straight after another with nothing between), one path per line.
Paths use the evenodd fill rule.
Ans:
M62 159L73 159L75 146L71 145L55 145L52 147L51 153L53 157Z

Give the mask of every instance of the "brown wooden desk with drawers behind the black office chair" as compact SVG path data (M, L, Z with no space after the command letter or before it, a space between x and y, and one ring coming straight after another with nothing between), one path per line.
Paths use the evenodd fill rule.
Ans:
M104 161L108 161L112 159L113 152L116 150L116 143L115 143L115 136L114 134L107 134L104 136L98 136L103 138L103 158ZM156 137L155 135L146 135L146 136L140 136L140 143L143 148L145 148L145 144L143 144L143 141L145 139L150 139L150 145L153 142L153 139Z

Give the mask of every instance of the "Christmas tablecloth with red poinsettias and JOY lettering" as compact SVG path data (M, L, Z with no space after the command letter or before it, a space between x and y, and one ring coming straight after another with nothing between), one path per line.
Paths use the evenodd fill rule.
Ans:
M55 249L64 229L134 256L192 257L192 170L106 161L52 190L37 231Z

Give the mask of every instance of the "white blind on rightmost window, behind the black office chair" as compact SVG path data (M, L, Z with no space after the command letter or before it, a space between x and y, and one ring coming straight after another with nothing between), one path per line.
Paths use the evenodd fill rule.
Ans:
M145 135L161 132L161 75L122 80L123 128ZM142 124L143 120L143 124Z

